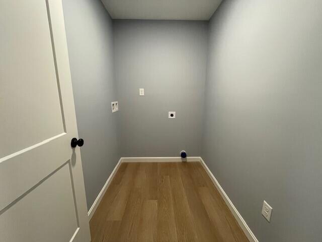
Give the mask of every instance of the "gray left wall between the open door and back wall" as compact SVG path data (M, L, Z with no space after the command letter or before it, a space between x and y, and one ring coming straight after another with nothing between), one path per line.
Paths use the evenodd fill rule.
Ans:
M113 76L112 20L99 0L63 0L87 204L90 208L120 158Z

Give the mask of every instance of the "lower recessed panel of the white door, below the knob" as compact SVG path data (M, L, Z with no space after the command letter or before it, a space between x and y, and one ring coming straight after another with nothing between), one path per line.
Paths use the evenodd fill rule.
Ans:
M2 241L69 241L78 226L68 162L3 211L0 227Z

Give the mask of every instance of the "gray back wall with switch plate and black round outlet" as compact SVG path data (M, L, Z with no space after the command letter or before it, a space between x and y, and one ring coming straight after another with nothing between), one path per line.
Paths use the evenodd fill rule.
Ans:
M200 155L208 22L113 23L122 156Z

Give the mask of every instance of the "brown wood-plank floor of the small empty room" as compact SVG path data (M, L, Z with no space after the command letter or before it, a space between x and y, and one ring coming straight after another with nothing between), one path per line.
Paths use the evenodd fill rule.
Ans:
M248 241L199 162L122 163L92 242Z

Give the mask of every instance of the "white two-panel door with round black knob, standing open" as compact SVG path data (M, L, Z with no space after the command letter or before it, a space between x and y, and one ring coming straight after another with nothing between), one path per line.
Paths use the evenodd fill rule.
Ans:
M61 0L0 0L1 242L91 240L73 137Z

